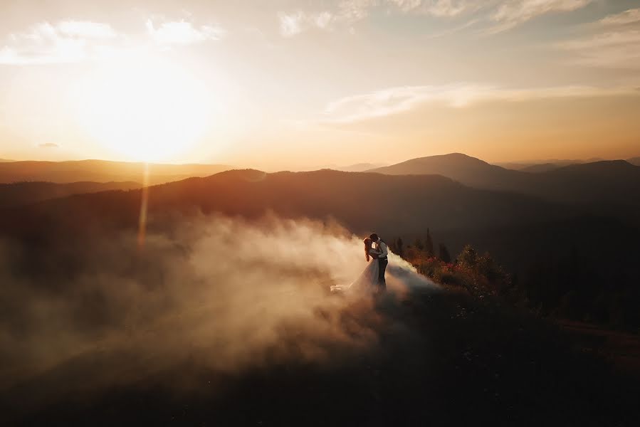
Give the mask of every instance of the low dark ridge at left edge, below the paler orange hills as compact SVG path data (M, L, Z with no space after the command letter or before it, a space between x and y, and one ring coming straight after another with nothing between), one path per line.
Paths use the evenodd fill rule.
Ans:
M137 182L16 182L0 184L0 208L33 203L47 199L70 196L72 194L95 193L107 190L139 189Z

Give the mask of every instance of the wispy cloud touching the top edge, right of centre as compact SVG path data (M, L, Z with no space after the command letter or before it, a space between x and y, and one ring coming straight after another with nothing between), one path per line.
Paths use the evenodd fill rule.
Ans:
M582 9L593 0L511 0L503 1L491 15L495 26L488 33L508 31L515 26L544 14L570 12Z

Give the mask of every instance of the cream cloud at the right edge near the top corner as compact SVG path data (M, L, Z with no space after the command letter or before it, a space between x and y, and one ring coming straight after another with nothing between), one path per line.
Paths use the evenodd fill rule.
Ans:
M640 69L640 9L606 16L589 28L595 32L555 47L571 53L577 65Z

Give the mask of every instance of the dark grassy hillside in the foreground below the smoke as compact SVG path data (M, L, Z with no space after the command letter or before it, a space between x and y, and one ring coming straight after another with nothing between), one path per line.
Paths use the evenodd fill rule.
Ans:
M315 316L330 315L319 310ZM370 347L310 343L283 330L261 362L210 369L194 351L181 363L127 376L140 354L91 349L6 391L16 425L498 425L636 426L637 377L614 371L557 327L455 291L389 295L334 319L376 332ZM241 337L238 337L240 342ZM325 352L305 361L305 347ZM283 349L288 357L281 359ZM152 356L145 356L152 357ZM209 354L207 357L216 357Z

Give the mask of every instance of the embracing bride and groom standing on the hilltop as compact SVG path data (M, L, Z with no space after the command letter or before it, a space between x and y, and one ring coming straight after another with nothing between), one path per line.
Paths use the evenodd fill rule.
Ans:
M360 277L347 286L336 285L331 287L331 292L352 293L383 293L387 290L387 281L384 273L387 270L389 250L387 243L379 238L376 233L364 239L364 257L367 258L367 268L364 268Z

